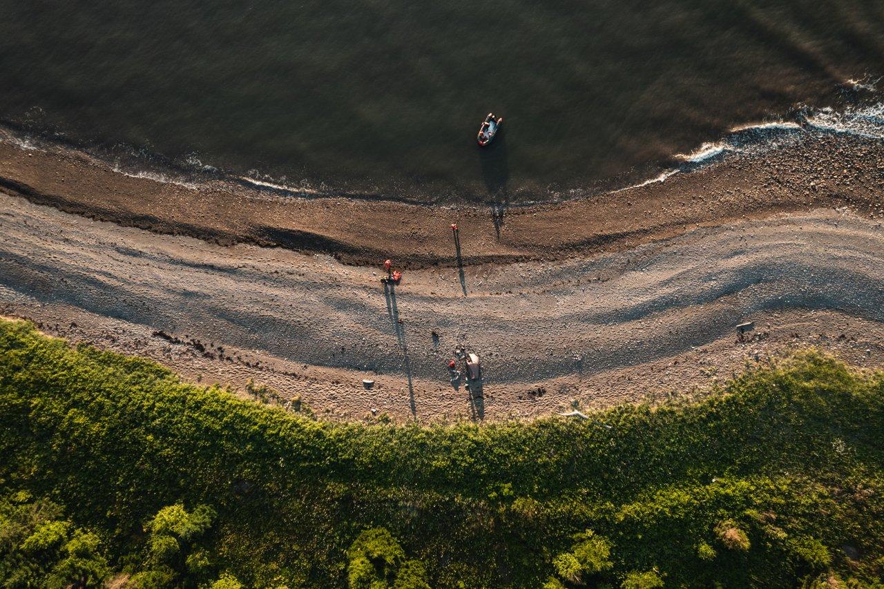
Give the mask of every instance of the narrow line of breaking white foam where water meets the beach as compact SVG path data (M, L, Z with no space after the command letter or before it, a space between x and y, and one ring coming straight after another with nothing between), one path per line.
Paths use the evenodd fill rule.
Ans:
M884 103L869 104L860 112L867 109L880 111L884 109ZM838 111L822 109L817 111L817 114L831 117L833 112L837 113ZM850 109L842 112L849 113ZM244 188L247 197L249 192L258 192L267 197L276 195L286 199L343 198L370 203L395 203L442 209L486 209L489 206L498 205L505 205L507 209L521 209L574 203L598 195L613 195L646 187L667 180L679 173L697 172L708 165L719 164L726 158L777 149L784 140L799 140L798 135L813 127L832 133L856 133L858 136L864 136L861 132L855 132L848 128L836 128L837 123L830 127L817 125L812 121L813 117L807 113L796 115L793 119L795 120L774 120L733 126L717 140L702 142L695 149L684 153L674 153L658 162L646 163L643 168L644 172L634 169L621 174L621 177L598 179L591 185L584 187L547 189L543 194L522 187L516 188L514 191L503 189L497 193L488 192L482 197L476 195L476 198L453 195L431 197L430 200L422 200L420 197L433 192L429 187L415 187L414 196L409 196L377 190L351 190L343 186L332 187L333 183L324 180L318 182L320 187L310 186L311 183L308 180L303 180L299 185L286 184L285 177L283 180L276 180L257 170L250 170L248 173L229 172L209 164L202 164L195 158L193 161L190 159L176 161L161 154L142 155L139 153L140 150L133 147L119 146L111 149L100 145L80 143L66 138L64 134L53 136L50 131L34 134L19 124L4 120L0 120L0 143L10 143L29 152L54 153L58 157L84 159L98 167L110 168L112 172L135 180L152 180L159 184L170 184L202 191L218 190L237 193ZM880 136L877 138L884 138L884 126L880 128L879 133ZM869 137L866 136L866 138ZM129 160L129 164L123 164L123 160ZM529 196L527 198L519 196L511 198L513 195L520 194Z

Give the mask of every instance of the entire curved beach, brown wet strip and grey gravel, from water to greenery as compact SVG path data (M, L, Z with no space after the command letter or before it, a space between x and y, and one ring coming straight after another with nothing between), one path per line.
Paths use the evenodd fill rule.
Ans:
M665 398L796 346L884 365L884 141L802 127L712 159L591 198L478 207L170 184L0 141L0 313L342 420ZM406 270L398 310L385 258ZM747 320L758 330L737 339ZM444 371L465 344L487 362L481 416Z

